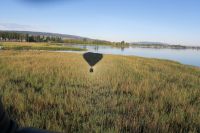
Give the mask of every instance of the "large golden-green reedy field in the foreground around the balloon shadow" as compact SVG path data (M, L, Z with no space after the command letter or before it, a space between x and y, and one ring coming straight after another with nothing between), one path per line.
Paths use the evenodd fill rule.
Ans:
M62 132L200 132L200 69L104 55L0 52L0 95L21 126Z

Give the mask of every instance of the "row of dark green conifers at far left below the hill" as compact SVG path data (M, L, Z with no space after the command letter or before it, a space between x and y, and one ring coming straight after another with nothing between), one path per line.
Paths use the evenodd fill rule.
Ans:
M61 37L29 35L16 32L0 32L0 41L16 42L63 42Z

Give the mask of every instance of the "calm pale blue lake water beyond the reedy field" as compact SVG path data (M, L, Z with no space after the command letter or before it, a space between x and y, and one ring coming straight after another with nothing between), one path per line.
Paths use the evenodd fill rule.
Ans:
M114 48L110 46L83 46L74 47L86 48L90 52L115 55L141 56L148 58L168 59L178 61L182 64L200 67L200 50L192 49L153 49L153 48Z

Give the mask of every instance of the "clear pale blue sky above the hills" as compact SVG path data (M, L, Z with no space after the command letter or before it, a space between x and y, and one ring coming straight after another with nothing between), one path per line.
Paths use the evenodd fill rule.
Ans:
M199 0L2 0L0 30L200 46Z

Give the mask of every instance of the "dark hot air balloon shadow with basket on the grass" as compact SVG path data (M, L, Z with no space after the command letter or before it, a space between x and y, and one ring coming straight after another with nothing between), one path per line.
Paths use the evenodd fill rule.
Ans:
M102 54L98 54L98 53L92 53L92 52L88 52L83 54L83 58L85 59L85 61L90 65L90 72L93 73L94 69L93 67L103 58Z

